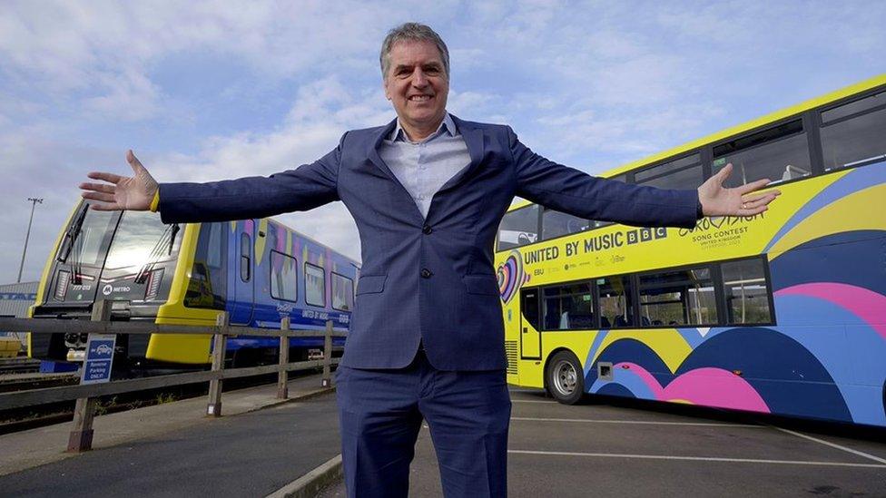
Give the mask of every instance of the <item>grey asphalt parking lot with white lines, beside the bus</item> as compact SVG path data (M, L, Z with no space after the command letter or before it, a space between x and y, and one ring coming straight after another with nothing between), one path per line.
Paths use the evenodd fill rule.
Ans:
M882 431L514 390L509 496L886 496ZM420 433L411 496L441 496ZM344 496L339 484L322 496Z

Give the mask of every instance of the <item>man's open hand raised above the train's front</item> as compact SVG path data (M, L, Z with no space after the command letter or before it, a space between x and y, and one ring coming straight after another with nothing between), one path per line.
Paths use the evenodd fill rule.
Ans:
M92 171L86 176L93 180L107 181L108 183L81 183L84 199L98 200L91 202L94 210L137 210L144 211L151 208L154 194L157 193L157 181L151 173L144 169L142 163L135 158L133 151L126 152L126 161L133 167L135 176L125 177L113 173ZM110 185L109 185L110 183Z

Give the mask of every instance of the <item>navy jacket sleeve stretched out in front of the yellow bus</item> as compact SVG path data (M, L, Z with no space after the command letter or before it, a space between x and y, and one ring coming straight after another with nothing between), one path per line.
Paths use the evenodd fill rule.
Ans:
M537 204L588 220L644 227L692 228L697 190L665 190L605 180L548 161L530 151L507 128L517 169L516 194Z

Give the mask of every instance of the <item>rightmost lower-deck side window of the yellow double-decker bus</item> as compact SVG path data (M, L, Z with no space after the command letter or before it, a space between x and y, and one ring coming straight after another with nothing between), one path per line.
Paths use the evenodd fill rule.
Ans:
M764 264L760 258L721 263L728 325L774 323Z

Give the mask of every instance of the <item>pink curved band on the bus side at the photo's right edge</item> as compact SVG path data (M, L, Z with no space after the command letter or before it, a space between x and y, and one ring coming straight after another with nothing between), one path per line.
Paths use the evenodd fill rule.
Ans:
M872 290L849 284L816 282L783 288L775 292L775 297L779 296L808 296L832 302L851 311L886 339L886 297Z

